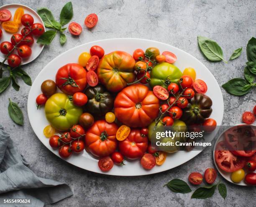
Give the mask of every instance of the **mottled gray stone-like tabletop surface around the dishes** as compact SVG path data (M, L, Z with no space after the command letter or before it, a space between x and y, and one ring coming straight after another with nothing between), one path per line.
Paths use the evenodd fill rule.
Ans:
M0 0L0 5L20 3L33 9L47 7L55 18L59 18L60 10L67 1ZM256 34L256 1L253 0L73 0L72 3L73 20L83 25L82 34L74 38L66 31L68 40L63 47L59 44L57 35L33 63L23 67L32 80L49 61L76 45L105 38L133 37L168 43L192 54L210 69L222 85L230 78L243 77L246 44ZM83 24L89 13L96 13L99 17L98 24L93 30L87 30ZM223 48L226 60L233 50L241 46L242 55L228 64L208 62L197 46L197 35L216 40ZM218 180L223 181L228 188L225 200L217 192L209 199L190 199L191 194L175 194L163 187L173 178L187 181L190 172L203 173L206 168L213 167L212 151L203 151L175 169L143 177L104 176L68 164L52 154L37 139L27 116L26 106L30 87L21 81L20 86L19 92L8 88L0 96L1 123L38 176L66 182L72 188L74 196L52 206L255 206L255 188L238 187L226 182L220 175ZM222 124L241 123L243 111L251 111L256 103L255 89L242 97L231 96L223 89L222 92L225 104ZM17 126L10 120L7 111L8 98L12 98L21 106L25 117L24 126ZM192 189L195 190L195 187Z

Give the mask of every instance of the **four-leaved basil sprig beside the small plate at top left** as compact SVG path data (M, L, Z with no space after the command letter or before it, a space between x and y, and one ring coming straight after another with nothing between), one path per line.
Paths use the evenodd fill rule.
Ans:
M67 42L67 37L63 32L67 28L63 28L62 26L69 23L73 17L72 3L68 2L62 8L60 13L60 23L54 19L54 16L52 15L51 11L47 8L40 8L37 10L37 13L42 18L45 27L54 29L54 30L48 30L44 34L42 34L38 38L37 43L40 43L43 45L49 45L51 41L54 39L54 37L56 36L57 31L59 31L59 34L60 34L59 41L61 45L64 45Z

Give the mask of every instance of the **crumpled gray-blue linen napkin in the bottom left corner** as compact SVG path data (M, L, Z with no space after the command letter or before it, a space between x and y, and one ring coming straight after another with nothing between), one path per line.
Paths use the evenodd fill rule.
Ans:
M0 206L43 207L73 195L67 184L37 177L0 125ZM30 199L28 204L3 204L4 199Z

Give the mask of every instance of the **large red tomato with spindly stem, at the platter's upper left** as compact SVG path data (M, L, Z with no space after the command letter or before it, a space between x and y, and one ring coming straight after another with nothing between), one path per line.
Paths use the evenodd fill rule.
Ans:
M86 70L77 63L62 66L56 73L56 85L68 95L82 92L87 86Z

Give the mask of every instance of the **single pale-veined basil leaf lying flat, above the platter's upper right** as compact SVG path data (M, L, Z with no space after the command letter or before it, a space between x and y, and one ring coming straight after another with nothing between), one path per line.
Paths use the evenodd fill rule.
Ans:
M227 63L227 61L223 59L223 51L218 43L202 36L198 36L197 38L202 53L209 61L217 62L223 60Z

